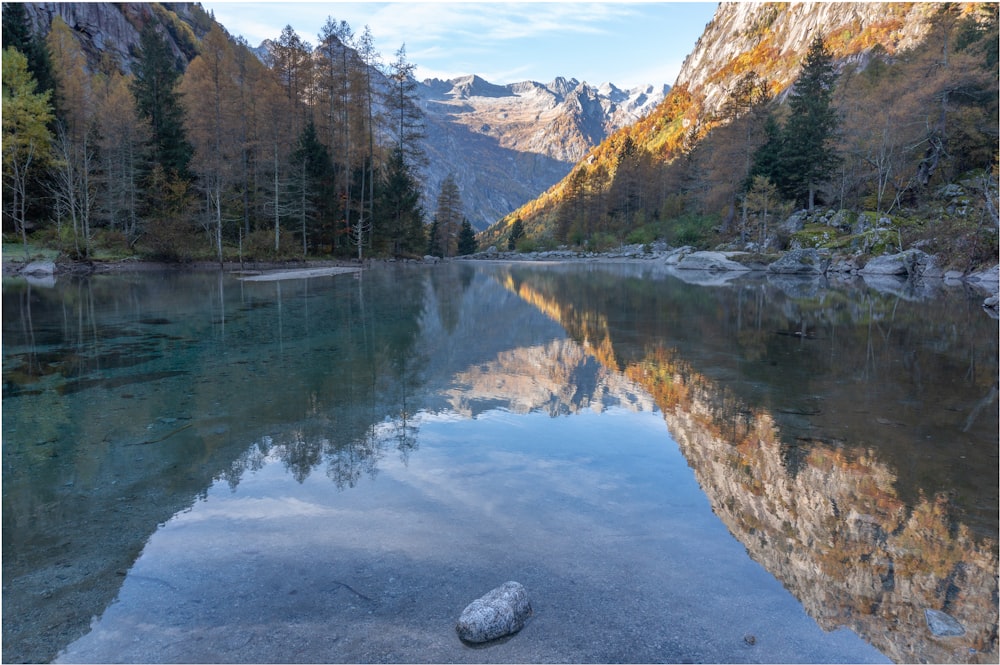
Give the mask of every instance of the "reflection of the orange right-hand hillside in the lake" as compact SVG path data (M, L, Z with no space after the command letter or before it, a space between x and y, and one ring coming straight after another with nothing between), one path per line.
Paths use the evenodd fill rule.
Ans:
M506 283L655 397L713 510L821 625L898 662L995 661L995 323L960 298L611 272Z

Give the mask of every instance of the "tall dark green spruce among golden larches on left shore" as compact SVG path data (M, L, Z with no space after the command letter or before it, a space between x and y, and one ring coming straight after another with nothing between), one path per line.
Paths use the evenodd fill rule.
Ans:
M177 93L180 69L152 22L142 29L139 49L132 94L140 116L152 129L153 160L168 174L190 179L193 148L184 134L184 111Z

